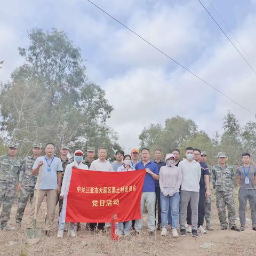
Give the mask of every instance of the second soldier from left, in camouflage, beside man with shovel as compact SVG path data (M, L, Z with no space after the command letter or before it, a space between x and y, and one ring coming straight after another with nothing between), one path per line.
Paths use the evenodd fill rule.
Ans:
M20 172L18 190L20 191L19 205L16 213L16 226L15 229L20 229L21 220L25 211L28 198L30 197L30 204L33 202L34 188L36 185L36 175L31 174L32 167L37 157L42 153L42 143L35 142L33 144L33 156L27 156L23 162Z

